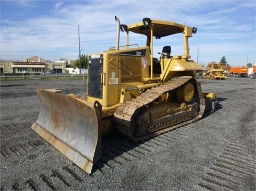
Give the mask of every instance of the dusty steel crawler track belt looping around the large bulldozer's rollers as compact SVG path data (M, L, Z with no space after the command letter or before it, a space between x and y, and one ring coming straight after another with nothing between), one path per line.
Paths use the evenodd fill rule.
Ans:
M167 126L165 128L159 129L155 132L150 132L149 134L147 134L145 136L133 137L130 132L130 125L131 125L130 123L132 121L133 114L136 111L138 111L143 106L154 102L155 99L157 99L159 96L161 96L169 91L175 90L178 87L186 84L186 82L188 82L190 79L192 79L192 78L191 77L173 78L170 81L165 82L165 84L163 84L161 86L153 87L153 88L147 90L145 93L142 93L140 96L132 99L131 101L127 101L127 102L121 104L121 106L119 106L118 109L115 111L115 120L117 123L116 129L118 131L122 132L123 134L129 136L130 138L138 141L138 140L155 137L159 134L163 134L164 132L185 126L189 123L199 120L202 117L204 110L205 110L205 100L203 97L201 84L199 82L197 82L195 79L192 79L196 82L196 89L198 92L199 102L200 102L200 104L199 104L200 111L199 111L197 117L187 120L185 122L181 122L179 124L174 124L173 126L170 126L170 127Z

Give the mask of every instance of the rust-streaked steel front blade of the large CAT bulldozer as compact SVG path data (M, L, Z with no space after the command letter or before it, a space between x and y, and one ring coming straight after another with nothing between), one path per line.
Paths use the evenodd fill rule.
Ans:
M39 117L31 128L87 173L101 157L101 104L37 89Z

